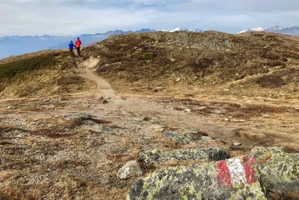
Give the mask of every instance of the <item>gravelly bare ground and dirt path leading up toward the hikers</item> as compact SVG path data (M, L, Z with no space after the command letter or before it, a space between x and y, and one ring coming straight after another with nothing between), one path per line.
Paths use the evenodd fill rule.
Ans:
M153 149L213 146L229 150L231 157L248 155L253 146L299 150L294 107L115 91L94 74L97 62L77 65L97 90L0 101L2 199L125 199L128 187L142 177L121 180L118 170ZM180 129L192 129L195 136L198 129L207 137L181 142L162 134ZM181 164L190 163L144 166L143 176Z

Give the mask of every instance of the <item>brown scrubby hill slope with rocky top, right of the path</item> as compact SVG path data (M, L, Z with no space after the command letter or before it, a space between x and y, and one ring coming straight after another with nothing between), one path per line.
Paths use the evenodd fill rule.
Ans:
M299 63L297 39L216 31L130 33L111 36L85 54L101 57L97 74L115 85L192 85L212 95L228 94L223 88L229 87L237 96L297 98L299 71L291 67ZM177 83L178 77L186 79Z

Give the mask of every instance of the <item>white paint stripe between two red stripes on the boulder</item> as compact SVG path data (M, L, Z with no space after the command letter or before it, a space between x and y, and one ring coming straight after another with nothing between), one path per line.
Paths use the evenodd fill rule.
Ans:
M229 169L231 174L231 183L232 184L247 184L246 177L245 177L245 170L241 164L241 160L238 157L230 158L227 160L226 165Z

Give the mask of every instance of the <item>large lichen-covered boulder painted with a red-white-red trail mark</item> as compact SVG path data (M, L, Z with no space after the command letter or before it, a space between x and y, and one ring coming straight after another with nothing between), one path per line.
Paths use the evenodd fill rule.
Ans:
M251 156L166 167L136 181L127 200L266 200Z

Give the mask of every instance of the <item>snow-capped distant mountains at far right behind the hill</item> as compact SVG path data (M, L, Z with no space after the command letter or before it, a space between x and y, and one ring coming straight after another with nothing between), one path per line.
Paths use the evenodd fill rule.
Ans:
M274 27L251 27L246 30L242 30L239 33L247 33L251 31L264 31L264 32L271 32L271 33L282 33L286 35L294 35L294 36L299 36L299 26L293 26L293 27L282 27L282 26L274 26Z

